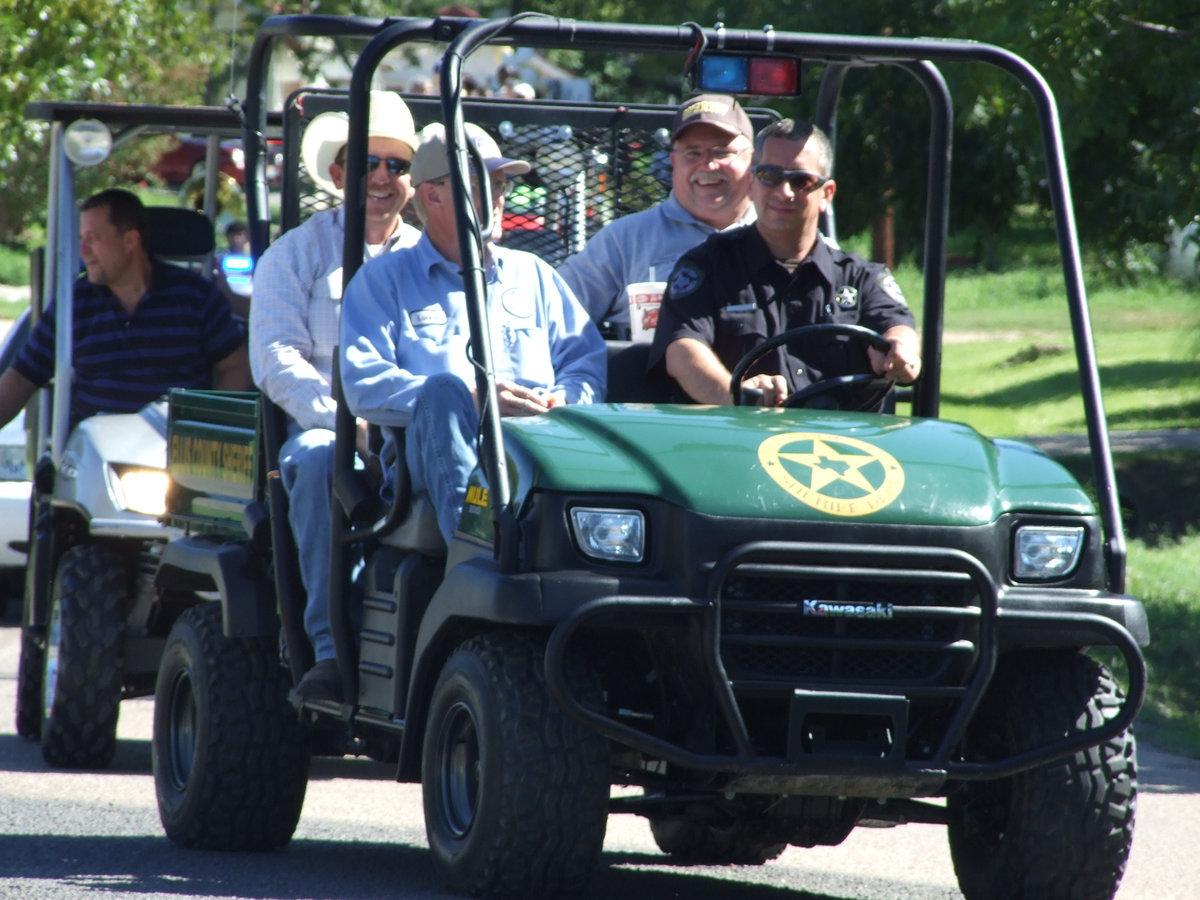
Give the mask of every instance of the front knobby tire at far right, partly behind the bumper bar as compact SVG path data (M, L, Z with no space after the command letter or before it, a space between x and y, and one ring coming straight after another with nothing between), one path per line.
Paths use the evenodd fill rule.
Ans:
M970 757L1006 756L1111 718L1121 690L1081 654L1036 650L1002 660L971 731ZM948 798L954 871L967 900L1111 898L1133 841L1133 733Z

